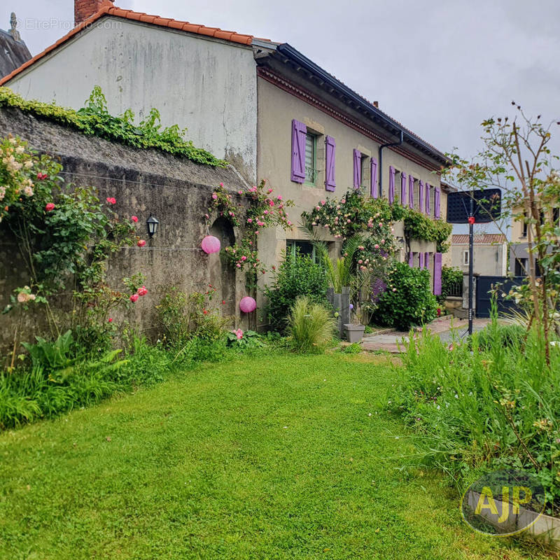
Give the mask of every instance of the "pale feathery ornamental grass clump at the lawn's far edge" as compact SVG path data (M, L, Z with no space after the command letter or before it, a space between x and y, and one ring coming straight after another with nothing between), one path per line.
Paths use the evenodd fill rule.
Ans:
M288 336L293 348L299 352L319 352L332 340L335 319L321 304L307 297L298 297L290 309Z

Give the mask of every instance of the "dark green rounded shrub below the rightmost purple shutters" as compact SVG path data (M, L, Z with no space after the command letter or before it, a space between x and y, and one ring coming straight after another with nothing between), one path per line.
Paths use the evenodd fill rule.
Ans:
M430 272L398 262L388 273L387 286L379 296L374 321L408 330L429 323L436 316L437 302L430 286Z

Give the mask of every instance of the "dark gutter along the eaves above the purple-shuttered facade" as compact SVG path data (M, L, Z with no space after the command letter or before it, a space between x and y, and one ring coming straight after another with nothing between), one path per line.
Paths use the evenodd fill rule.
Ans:
M424 151L430 153L430 155L432 155L433 158L447 163L448 159L445 157L444 154L434 151L434 149L428 144L426 144L426 142L407 132L407 130L405 130L404 127L399 125L399 123L397 123L396 120L393 120L392 118L388 117L385 113L383 113L383 111L380 111L376 106L372 105L369 102L366 102L365 99L363 99L358 94L356 94L356 92L351 90L347 85L344 85L342 82L340 82L339 80L331 76L328 72L323 70L321 66L318 66L312 60L302 55L301 52L295 50L295 48L293 48L288 43L281 43L280 45L276 45L276 48L274 50L276 50L276 52L281 52L282 55L288 57L294 62L297 62L297 64L302 66L302 68L306 69L311 73L314 73L316 76L321 78L323 82L330 85L330 87L332 87L334 90L337 90L337 92L344 94L346 97L351 99L351 101L354 104L360 106L360 108L362 109L365 109L365 111L370 113L370 116L372 116L376 120L381 121L381 124L384 125L385 127L392 127L393 130L395 131L394 134L400 134L401 140L399 144L402 144L405 141L405 139L407 139L412 144L416 144L417 146L420 146ZM394 145L398 145L398 144L394 144Z

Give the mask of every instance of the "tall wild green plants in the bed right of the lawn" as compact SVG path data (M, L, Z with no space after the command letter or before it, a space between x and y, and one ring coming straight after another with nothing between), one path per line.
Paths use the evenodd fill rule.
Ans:
M481 344L484 342L484 346ZM411 332L389 406L414 426L421 462L463 489L481 472L517 468L560 512L560 348L547 366L542 333L509 337L496 316L471 341Z

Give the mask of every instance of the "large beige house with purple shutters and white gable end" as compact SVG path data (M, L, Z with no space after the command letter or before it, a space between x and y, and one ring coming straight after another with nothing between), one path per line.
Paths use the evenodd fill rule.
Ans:
M186 127L196 146L228 160L246 181L266 179L293 200L288 217L296 225L302 211L352 188L446 219L447 157L288 43L123 10L111 0L76 0L75 20L0 85L74 109L99 85L111 113L130 108L139 119L155 107L163 125ZM340 242L323 236L336 255ZM402 223L395 236L400 259L430 269L437 293L435 241L405 243ZM263 230L260 258L272 267L296 245L311 250L298 228Z

